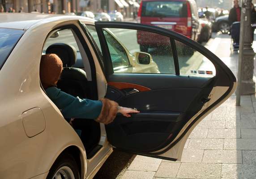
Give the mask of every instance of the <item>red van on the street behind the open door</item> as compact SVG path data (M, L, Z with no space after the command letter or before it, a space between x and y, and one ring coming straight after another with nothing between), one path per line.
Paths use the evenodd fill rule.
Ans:
M195 41L200 38L201 26L195 0L141 0L138 20L141 24L174 30ZM142 33L145 32L137 33L141 51L159 44L145 39L147 36Z

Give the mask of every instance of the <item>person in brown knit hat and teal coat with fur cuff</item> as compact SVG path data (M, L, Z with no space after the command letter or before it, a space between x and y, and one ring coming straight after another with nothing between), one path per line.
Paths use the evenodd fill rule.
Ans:
M107 98L94 101L64 93L56 87L62 68L62 61L57 55L42 55L40 80L47 96L60 109L64 118L95 119L97 122L109 124L115 119L117 113L126 117L131 116L129 113L139 113L132 108L119 107L117 102Z

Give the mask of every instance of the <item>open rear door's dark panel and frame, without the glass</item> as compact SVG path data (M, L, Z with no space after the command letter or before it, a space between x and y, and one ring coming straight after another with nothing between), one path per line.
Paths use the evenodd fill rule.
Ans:
M117 115L114 122L106 125L108 141L118 149L145 156L171 160L180 157L189 132L208 111L213 111L234 91L236 79L233 73L205 47L175 32L134 23L95 24L105 53L106 97L120 106L135 107L141 111L130 118ZM177 71L176 74L114 73L113 69L111 72L111 58L102 28L148 30L164 34L206 56L214 64L216 76L179 75Z

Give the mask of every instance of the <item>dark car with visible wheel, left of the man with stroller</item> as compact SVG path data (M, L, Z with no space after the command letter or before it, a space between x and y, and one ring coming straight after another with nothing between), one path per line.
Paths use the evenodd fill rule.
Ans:
M213 22L213 31L221 31L226 34L230 31L230 22L228 21L228 15L217 17Z

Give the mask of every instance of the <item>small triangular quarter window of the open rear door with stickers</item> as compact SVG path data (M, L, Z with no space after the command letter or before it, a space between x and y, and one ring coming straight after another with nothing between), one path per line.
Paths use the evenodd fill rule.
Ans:
M213 63L192 47L175 40L181 75L216 75Z

